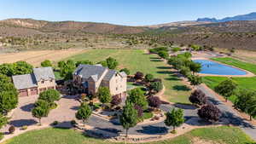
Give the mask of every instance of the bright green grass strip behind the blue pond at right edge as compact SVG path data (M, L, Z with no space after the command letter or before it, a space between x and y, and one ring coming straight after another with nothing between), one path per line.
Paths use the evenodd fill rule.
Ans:
M230 57L212 58L212 60L216 60L216 61L222 62L224 64L228 64L231 66L236 66L236 67L239 67L241 69L244 69L244 70L247 70L249 72L253 72L254 74L256 74L256 65L251 64L251 63L243 62L241 60L232 59Z

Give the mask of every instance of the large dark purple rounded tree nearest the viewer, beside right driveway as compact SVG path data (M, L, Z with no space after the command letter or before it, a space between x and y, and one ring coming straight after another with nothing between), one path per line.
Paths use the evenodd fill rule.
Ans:
M218 122L218 119L221 116L220 110L213 104L208 104L201 107L197 114L200 118L203 118L209 122Z

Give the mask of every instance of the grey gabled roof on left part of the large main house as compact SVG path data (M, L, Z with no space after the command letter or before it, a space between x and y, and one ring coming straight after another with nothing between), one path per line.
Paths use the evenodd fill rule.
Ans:
M93 75L94 78L101 78L102 74L107 71L107 67L95 66L95 65L79 65L78 68L73 72L75 75L79 75L81 78L90 78Z

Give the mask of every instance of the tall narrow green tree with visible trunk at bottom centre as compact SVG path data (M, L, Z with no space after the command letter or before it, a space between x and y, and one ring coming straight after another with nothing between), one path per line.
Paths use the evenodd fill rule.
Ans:
M125 107L121 116L119 117L120 123L126 130L126 137L128 136L128 130L137 124L137 110L131 102L126 101Z

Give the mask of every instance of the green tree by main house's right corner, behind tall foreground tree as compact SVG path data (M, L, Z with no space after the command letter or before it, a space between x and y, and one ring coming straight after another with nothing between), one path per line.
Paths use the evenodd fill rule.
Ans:
M131 89L126 101L137 104L138 106L142 107L143 110L148 108L148 101L143 93L143 90L140 88Z

